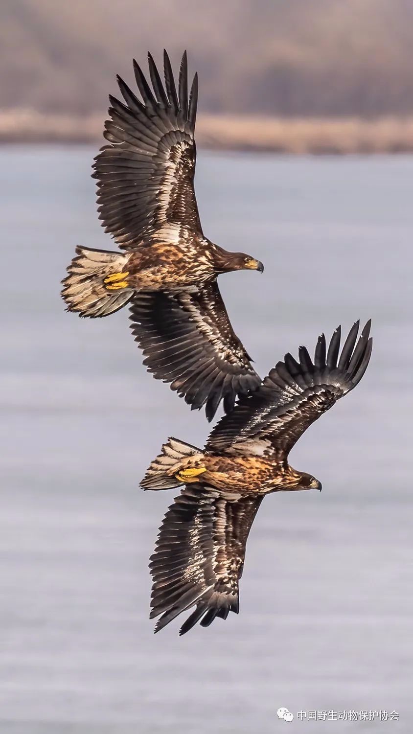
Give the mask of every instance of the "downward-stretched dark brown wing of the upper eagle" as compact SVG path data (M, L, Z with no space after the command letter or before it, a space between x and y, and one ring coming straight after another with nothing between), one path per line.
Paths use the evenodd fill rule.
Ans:
M206 404L208 421L222 399L229 412L237 395L260 385L216 282L194 293L139 292L132 303L131 329L144 364L193 409Z

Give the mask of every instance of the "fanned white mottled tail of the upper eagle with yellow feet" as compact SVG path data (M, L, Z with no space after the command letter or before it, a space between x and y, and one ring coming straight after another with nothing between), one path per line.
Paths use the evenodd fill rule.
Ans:
M128 303L134 293L125 283L128 258L120 252L76 247L76 258L67 268L69 275L62 280L67 310L96 319Z

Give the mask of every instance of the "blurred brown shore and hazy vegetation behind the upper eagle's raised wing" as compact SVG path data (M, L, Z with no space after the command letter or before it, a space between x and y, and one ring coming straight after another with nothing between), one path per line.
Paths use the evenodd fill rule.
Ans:
M136 89L183 48L200 75L197 143L280 153L413 150L410 0L7 0L0 142L93 142L115 74Z

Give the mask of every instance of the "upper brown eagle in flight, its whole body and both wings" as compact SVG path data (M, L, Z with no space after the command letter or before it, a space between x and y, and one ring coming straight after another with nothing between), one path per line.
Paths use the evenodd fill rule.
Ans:
M230 324L216 279L263 264L227 252L204 236L194 192L197 74L188 94L186 52L178 90L164 51L164 83L148 54L152 89L134 61L138 98L117 77L124 102L109 96L95 158L99 219L123 252L77 247L62 281L67 310L108 316L130 304L131 329L144 364L211 421L223 400L260 385Z

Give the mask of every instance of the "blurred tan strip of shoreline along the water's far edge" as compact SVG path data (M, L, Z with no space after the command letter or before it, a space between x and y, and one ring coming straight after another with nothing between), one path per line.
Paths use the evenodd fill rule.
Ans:
M0 111L0 143L97 143L106 115L76 117ZM199 115L197 145L212 150L290 154L411 153L413 115L406 117L266 117Z

